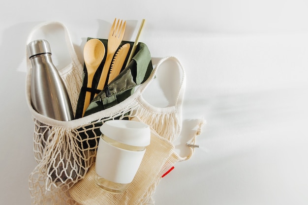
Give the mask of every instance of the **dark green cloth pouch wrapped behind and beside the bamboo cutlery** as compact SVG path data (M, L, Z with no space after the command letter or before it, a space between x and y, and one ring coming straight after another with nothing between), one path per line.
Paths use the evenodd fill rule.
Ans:
M91 38L88 38L88 40L89 39ZM105 45L105 48L107 48L107 40L99 40L101 40ZM130 48L132 48L134 42L122 41L119 48L121 48L121 46L125 43L129 43L131 45ZM75 118L80 118L82 116L86 91L91 91L92 97L95 93L98 93L94 99L91 98L92 101L85 112L84 116L89 116L93 113L105 110L123 102L134 92L134 88L141 85L149 78L150 74L153 71L153 65L151 60L151 54L147 45L142 42L139 42L136 47L135 55L133 56L129 64L125 67L130 51L131 50L129 50L127 57L123 63L123 68L120 74L112 82L106 85L103 90L97 90L95 88L98 85L99 77L104 66L106 57L104 57L97 69L98 72L96 72L94 75L92 88L87 88L87 79L84 78L83 86L81 88L78 99ZM84 66L84 76L86 76L86 74L86 66ZM87 139L83 141L81 147L87 149L89 147L92 148L98 145L99 138L97 138L96 136L101 135L101 132L99 130L101 125L102 122L97 122L93 125L89 125L89 127L94 126L94 129L80 132L80 137L82 138L82 141Z

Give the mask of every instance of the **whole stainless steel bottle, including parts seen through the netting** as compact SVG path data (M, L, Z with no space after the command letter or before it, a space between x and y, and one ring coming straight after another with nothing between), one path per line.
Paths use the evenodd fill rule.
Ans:
M35 40L27 46L29 58L32 64L31 73L31 104L33 108L41 115L56 120L69 121L74 118L72 107L66 87L61 76L51 59L51 49L48 41ZM40 125L43 125L42 123ZM49 126L39 126L38 132L43 135L41 145L43 149L46 143L52 140ZM67 146L67 145L65 145ZM65 146L62 147L61 155L57 155L57 167L48 166L47 171L53 181L59 182L70 176L74 179L78 167L74 169L69 164L74 164L71 156L67 156ZM62 161L62 163L59 163ZM66 165L68 166L66 167ZM65 167L65 168L64 168ZM65 169L65 172L62 172ZM72 172L72 173L71 173ZM66 174L65 174L66 173Z

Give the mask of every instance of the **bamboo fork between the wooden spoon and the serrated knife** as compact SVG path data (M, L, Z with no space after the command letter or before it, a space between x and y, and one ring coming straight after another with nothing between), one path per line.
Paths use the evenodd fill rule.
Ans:
M119 22L120 22L120 19L119 19L116 25L116 20L117 18L115 18L112 24L112 27L110 29L109 36L108 36L106 61L105 61L102 73L100 75L98 86L97 86L97 89L99 90L102 90L105 86L111 61L113 59L115 52L117 51L117 49L119 48L122 42L124 31L125 31L126 21L124 21L122 25L123 20L121 20L121 23L119 25Z

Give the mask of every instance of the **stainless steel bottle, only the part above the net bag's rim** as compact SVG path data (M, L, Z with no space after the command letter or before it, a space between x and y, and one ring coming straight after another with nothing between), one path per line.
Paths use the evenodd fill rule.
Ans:
M73 111L61 76L51 59L48 41L35 40L28 44L32 64L31 103L44 116L69 121Z

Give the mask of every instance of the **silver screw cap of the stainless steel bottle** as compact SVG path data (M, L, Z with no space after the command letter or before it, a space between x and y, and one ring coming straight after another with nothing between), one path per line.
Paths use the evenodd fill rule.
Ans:
M27 46L29 58L39 54L51 54L50 45L47 40L39 39L31 41Z

